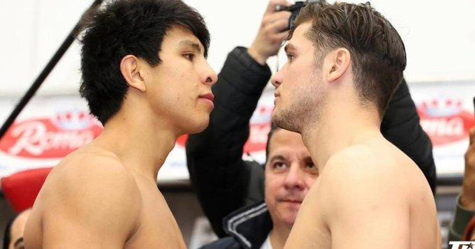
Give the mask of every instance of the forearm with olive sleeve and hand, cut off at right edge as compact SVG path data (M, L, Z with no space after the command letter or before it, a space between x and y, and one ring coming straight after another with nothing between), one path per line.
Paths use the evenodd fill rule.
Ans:
M470 130L469 134L462 193L457 198L455 218L449 228L448 241L460 241L467 224L475 216L475 127Z

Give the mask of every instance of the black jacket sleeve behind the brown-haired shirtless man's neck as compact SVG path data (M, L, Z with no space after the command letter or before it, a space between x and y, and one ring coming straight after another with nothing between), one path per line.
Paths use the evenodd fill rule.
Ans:
M421 168L432 193L435 193L436 174L432 143L419 122L416 105L406 80L403 79L383 116L381 133Z

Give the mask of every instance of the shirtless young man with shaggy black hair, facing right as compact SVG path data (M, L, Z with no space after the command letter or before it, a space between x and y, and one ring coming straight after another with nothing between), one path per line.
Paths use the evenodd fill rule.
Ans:
M55 167L27 248L185 248L156 186L177 137L206 128L217 75L203 18L180 0L112 1L82 37L81 95L103 133Z

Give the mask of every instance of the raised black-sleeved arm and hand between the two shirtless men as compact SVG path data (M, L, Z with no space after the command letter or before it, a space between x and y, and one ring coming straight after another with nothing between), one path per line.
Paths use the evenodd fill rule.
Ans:
M249 52L237 47L228 54L212 88L216 97L210 125L187 141L191 182L218 236L225 235L222 220L228 213L263 199L263 170L251 168L258 167L256 163L244 162L242 149L249 137L249 120L270 79L265 61L277 54L286 37L282 27L290 13L274 13L276 4L288 5L282 0L270 1Z

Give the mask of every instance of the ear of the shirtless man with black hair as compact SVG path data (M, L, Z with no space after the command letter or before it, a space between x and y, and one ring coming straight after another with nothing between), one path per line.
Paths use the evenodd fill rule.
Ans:
M147 90L145 81L140 76L139 62L136 56L131 54L124 56L120 61L120 72L129 86L142 92Z

